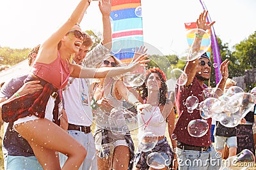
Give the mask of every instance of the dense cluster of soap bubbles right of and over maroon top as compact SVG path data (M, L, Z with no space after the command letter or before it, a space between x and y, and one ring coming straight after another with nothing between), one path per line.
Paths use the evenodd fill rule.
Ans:
M202 120L196 119L189 122L188 132L191 136L202 137L209 129L207 118L214 118L225 127L236 127L241 119L253 110L255 97L246 93L237 86L230 87L223 93L218 88L204 90L204 101L198 103L198 98L189 96L186 99L186 107L189 113L199 110Z

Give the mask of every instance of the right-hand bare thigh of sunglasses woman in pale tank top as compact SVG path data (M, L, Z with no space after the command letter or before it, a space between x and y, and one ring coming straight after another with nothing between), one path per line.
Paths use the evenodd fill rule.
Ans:
M116 146L113 153L113 170L128 169L129 166L129 147L127 146Z

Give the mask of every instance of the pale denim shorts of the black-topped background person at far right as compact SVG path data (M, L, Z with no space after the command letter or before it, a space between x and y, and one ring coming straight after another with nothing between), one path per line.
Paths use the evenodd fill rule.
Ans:
M227 144L228 148L236 147L237 148L237 138L236 136L224 137L224 136L214 136L215 138L215 148L216 150L222 150Z

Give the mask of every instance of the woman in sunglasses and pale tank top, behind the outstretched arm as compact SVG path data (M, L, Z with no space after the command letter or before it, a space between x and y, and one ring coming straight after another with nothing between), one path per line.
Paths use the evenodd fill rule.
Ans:
M144 48L142 53L145 53ZM111 55L104 60L99 67L120 67L122 62ZM124 129L115 129L113 132L113 120L124 118L123 99L128 103L135 104L138 97L134 96L125 87L124 82L116 78L102 78L93 85L93 101L97 104L95 146L98 152L98 169L132 169L134 159L134 145L131 134ZM115 117L113 116L115 115ZM109 119L110 118L110 119ZM118 121L118 120L117 120ZM124 125L125 126L125 125ZM121 127L121 126L118 126ZM103 145L113 147L113 156L108 156L102 151ZM109 152L111 154L111 152Z

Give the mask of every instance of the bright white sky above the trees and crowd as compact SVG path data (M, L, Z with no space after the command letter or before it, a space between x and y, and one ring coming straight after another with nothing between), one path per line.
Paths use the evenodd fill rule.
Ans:
M32 48L44 41L69 17L78 0L0 1L0 46ZM214 30L223 43L232 45L256 31L255 0L205 0ZM144 41L170 54L179 46L184 22L195 22L202 12L197 0L141 0ZM81 22L83 30L101 32L98 2L93 1Z

